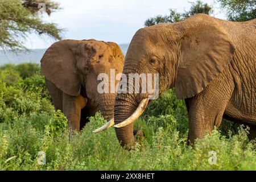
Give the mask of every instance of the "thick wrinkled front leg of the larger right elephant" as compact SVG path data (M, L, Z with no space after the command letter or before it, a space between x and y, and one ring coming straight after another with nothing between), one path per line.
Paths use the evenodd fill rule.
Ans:
M224 80L213 80L197 96L186 100L189 108L188 143L203 138L205 132L211 135L214 126L221 125L222 116L232 97L232 85Z

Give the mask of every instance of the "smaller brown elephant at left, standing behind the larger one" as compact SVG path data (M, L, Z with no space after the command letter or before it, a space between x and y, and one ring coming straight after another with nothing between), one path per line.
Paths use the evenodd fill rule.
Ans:
M113 118L115 93L97 92L97 76L110 69L121 73L124 57L113 42L90 40L61 40L52 44L41 60L41 71L55 109L63 111L70 129L79 131L87 117L100 110Z

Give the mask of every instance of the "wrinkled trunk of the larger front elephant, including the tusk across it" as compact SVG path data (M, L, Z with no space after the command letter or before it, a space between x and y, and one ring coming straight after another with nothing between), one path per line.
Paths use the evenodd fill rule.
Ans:
M133 65L125 64L123 74L129 78L129 73L143 73L143 70L139 68L134 70ZM138 84L139 88L136 88L135 78L131 81L133 84L130 84L130 80L127 83L127 89L133 90L133 93L120 93L115 97L114 127L121 146L125 147L127 150L131 150L137 142L134 138L134 121L146 108L148 93L135 93L138 90L142 90L142 80Z

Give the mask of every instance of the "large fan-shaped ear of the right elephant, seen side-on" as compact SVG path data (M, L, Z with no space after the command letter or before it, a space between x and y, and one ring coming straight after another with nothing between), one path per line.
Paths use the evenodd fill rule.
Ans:
M185 25L188 26L184 21ZM228 65L235 51L228 34L216 22L192 22L184 28L175 90L178 98L190 98L203 91Z

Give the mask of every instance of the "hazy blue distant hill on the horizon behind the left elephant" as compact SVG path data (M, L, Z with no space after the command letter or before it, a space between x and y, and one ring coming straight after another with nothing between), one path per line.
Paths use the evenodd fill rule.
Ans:
M125 55L129 44L120 44L123 54ZM24 62L40 63L40 60L46 52L46 49L32 49L30 52L13 53L10 51L0 51L0 65L12 63L19 64Z

